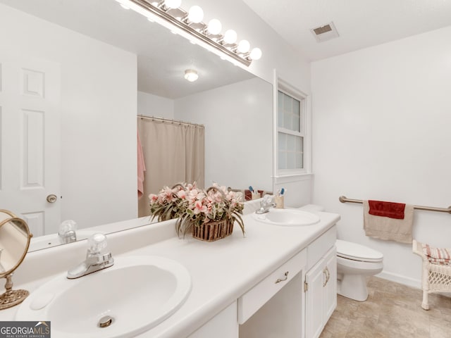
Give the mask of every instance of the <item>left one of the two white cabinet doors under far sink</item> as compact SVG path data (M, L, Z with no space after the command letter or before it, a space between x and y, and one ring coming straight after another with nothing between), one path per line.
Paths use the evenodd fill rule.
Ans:
M324 260L321 259L305 275L305 328L307 338L319 337L323 330L324 287L326 281Z

